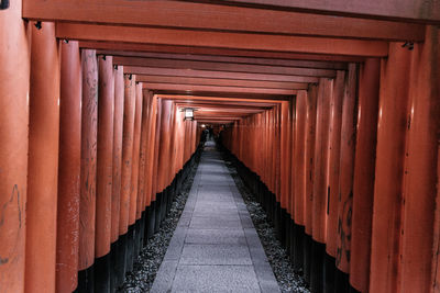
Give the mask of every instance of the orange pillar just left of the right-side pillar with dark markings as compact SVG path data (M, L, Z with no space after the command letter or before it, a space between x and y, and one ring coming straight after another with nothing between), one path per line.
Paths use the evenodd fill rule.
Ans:
M341 154L342 100L344 94L345 71L338 71L333 82L330 115L330 161L329 161L329 199L327 217L326 251L337 256L338 202L339 202L339 164Z

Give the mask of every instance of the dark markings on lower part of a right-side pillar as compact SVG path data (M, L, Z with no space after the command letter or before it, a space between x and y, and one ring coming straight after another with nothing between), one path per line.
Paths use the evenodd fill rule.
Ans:
M339 195L341 199L341 194ZM342 259L350 262L350 244L351 244L351 219L353 206L353 191L350 192L349 198L343 203L342 214L338 217L338 248L336 263L339 267Z

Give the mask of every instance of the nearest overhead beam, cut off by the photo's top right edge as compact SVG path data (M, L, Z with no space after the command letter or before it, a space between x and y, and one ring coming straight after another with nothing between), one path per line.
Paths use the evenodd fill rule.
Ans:
M204 0L191 2L204 2ZM350 2L344 0L211 0L210 2L342 16L440 23L440 2L437 0L351 0Z

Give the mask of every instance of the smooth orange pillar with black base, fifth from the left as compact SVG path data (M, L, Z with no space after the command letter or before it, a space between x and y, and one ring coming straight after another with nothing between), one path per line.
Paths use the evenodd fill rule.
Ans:
M111 195L113 177L113 58L98 57L97 209L95 290L110 291Z

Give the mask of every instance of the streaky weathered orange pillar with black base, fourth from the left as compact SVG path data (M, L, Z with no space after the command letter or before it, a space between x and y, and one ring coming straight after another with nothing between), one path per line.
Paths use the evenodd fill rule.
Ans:
M81 291L94 286L97 121L98 121L98 64L96 52L84 49L82 112L81 112L81 174L79 203L79 261L78 285Z

